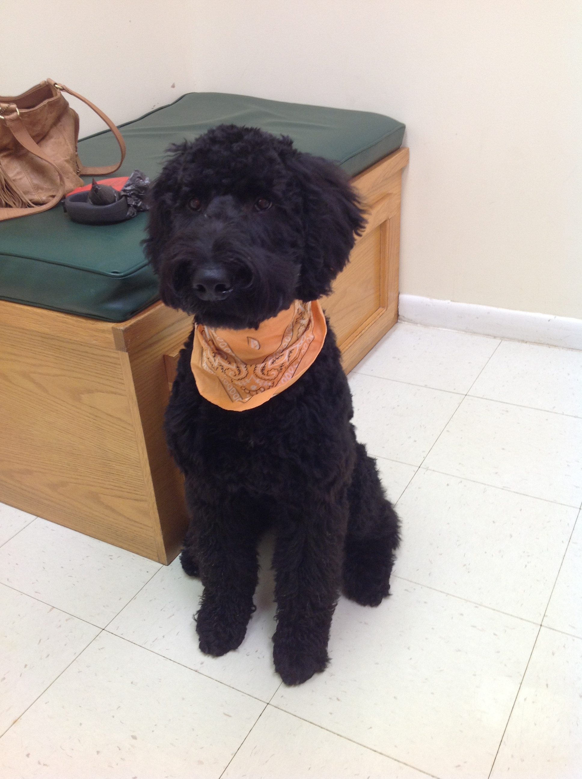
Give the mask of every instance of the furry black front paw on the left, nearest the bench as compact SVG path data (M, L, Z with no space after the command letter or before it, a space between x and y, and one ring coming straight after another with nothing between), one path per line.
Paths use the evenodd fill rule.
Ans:
M252 613L249 608L233 609L232 603L220 605L204 601L196 615L196 633L200 651L220 657L240 647Z

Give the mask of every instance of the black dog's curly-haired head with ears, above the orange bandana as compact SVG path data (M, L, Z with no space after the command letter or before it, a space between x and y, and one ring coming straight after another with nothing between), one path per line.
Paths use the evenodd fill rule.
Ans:
M236 125L170 152L144 241L166 305L240 329L330 292L365 224L337 165Z

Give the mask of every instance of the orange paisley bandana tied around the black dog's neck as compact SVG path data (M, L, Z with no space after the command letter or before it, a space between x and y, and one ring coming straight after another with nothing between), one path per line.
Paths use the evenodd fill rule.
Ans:
M198 325L190 361L198 391L228 411L256 408L305 373L326 332L319 301L296 300L256 330Z

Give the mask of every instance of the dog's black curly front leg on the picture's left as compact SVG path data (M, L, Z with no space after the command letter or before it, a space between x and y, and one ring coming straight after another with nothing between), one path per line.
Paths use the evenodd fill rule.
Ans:
M196 615L200 650L220 657L245 638L258 577L256 527L242 506L220 502L194 509L204 592Z

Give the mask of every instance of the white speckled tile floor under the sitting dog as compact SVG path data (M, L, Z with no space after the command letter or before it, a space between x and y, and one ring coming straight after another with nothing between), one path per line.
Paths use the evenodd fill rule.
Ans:
M302 687L273 670L269 538L213 659L178 560L0 506L2 779L582 777L582 353L400 323L350 382L403 543Z

